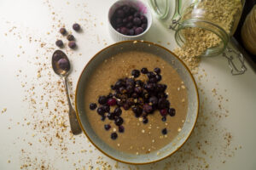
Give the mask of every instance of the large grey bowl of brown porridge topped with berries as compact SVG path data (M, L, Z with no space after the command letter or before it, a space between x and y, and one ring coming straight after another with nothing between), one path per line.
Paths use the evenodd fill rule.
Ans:
M75 105L84 134L103 154L131 164L171 156L199 111L183 61L153 42L125 41L98 52L82 71Z

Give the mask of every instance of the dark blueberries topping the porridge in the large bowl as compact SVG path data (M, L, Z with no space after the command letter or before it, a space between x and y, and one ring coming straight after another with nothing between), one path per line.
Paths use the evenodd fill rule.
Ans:
M146 81L139 80L138 77L144 74L148 77ZM129 110L136 117L142 117L143 123L148 123L148 115L159 111L162 116L161 120L166 122L167 116L175 116L175 109L170 107L170 102L167 99L166 84L161 84L160 68L154 68L154 71L148 71L147 68L142 68L141 71L131 71L131 78L125 77L119 79L111 89L113 93L102 95L96 103L90 104L90 110L96 110L98 115L102 117L102 121L108 117L116 126L119 127L119 133L125 132L125 127L122 126L124 120L121 117L122 109ZM110 107L114 107L113 112ZM109 130L110 125L105 125L105 129ZM167 133L166 128L162 130L163 134ZM111 133L111 139L117 139L117 133Z

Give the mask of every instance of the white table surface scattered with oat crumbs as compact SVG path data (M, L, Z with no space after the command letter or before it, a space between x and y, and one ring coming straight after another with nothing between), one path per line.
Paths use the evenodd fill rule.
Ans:
M83 28L72 31L79 49L65 48L73 65L69 81L74 94L84 65L113 44L107 23L113 2L0 2L0 169L255 169L255 73L246 64L244 75L231 76L221 56L201 60L195 76L201 99L195 131L165 160L144 166L118 163L96 150L84 134L71 135L66 96L50 63L55 40L64 39L58 30L64 24L72 31L74 22ZM173 32L155 19L145 40L176 46Z

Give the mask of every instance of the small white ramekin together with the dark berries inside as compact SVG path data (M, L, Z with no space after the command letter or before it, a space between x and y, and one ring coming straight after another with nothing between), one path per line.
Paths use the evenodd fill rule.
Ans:
M108 11L108 24L114 41L141 40L152 24L152 16L142 1L119 0Z

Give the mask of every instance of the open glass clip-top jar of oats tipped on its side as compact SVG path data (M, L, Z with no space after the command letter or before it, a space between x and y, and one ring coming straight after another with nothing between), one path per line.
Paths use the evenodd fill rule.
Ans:
M236 31L245 2L148 0L148 3L162 23L175 31L175 40L181 48L193 48L197 56L215 56L224 53L227 48L230 37Z

